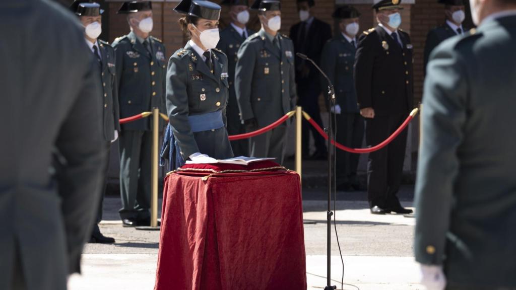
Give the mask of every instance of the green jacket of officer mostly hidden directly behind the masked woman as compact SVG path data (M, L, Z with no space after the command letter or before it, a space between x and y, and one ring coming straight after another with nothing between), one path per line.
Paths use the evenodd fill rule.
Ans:
M251 36L254 34L254 31L248 29L247 33ZM240 110L238 109L238 103L236 101L234 82L238 50L245 40L246 39L238 34L235 28L230 24L220 31L220 41L217 44L217 48L228 56L229 101L226 116L229 124L240 124Z

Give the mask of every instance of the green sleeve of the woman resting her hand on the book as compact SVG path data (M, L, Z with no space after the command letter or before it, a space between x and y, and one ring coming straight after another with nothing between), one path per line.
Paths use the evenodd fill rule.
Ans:
M167 70L167 109L170 125L184 160L199 152L188 122L188 73L181 59L170 58Z

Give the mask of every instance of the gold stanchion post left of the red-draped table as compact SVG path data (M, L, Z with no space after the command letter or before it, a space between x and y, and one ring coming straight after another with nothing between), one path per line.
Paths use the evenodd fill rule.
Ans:
M158 226L158 134L159 109L152 110L151 227Z

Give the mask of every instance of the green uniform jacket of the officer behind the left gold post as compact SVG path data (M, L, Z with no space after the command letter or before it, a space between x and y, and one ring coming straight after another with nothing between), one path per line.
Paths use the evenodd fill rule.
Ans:
M138 115L158 107L165 111L165 46L149 37L152 54L131 32L113 42L116 54L116 75L120 118ZM151 130L151 118L122 124L123 130Z

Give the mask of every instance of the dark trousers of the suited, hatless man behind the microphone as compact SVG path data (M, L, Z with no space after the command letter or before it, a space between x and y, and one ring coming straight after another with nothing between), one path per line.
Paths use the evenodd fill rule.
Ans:
M319 94L320 88L317 84L317 80L307 80L306 82L300 82L297 84L297 95L298 95L298 106L303 107L303 111L307 112L314 121L322 127L322 120L319 108ZM310 133L312 134L315 142L316 152L326 152L325 140L310 125L307 120L303 119L301 125L301 147L303 156L310 154Z

